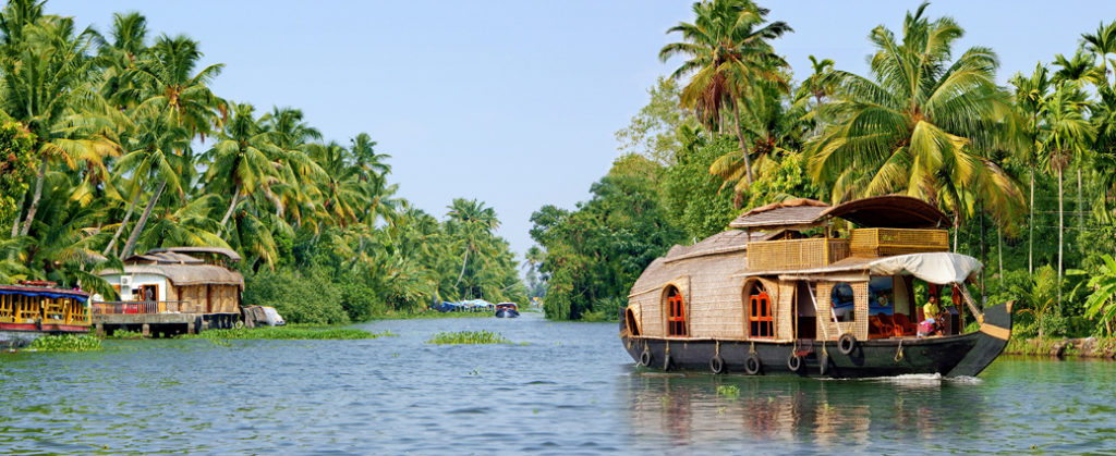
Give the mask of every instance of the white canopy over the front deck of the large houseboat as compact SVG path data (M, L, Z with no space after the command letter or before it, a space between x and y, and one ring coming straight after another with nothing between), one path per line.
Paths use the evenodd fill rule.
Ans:
M965 279L980 274L983 268L984 265L972 256L949 252L912 253L868 263L868 272L873 275L908 273L939 285L964 283Z

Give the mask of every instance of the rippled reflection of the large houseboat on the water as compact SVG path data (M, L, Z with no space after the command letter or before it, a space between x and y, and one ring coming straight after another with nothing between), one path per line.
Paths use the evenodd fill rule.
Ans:
M864 450L941 440L945 449L950 436L977 431L989 419L981 415L980 384L972 379L817 380L638 370L620 382L625 386L636 443L763 449L771 443L809 442L818 449L848 452L849 445Z

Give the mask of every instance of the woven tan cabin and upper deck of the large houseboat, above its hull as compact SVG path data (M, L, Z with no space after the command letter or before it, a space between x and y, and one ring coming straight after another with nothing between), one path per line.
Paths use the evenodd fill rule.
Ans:
M964 282L981 264L949 252L950 224L907 196L757 207L732 230L655 260L628 295L624 329L722 341L913 338L934 294L933 333L956 334L966 305L975 312Z

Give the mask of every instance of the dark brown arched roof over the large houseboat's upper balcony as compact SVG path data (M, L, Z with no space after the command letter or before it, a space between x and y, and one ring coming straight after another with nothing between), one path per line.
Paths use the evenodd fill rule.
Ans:
M866 227L941 229L953 225L950 217L937 207L903 195L850 201L826 210L818 217L845 219Z

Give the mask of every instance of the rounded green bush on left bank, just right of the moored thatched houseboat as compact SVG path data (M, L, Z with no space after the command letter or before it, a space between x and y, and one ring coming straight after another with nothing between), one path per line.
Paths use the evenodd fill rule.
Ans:
M349 316L337 285L312 271L260 271L244 287L243 305L269 305L289 323L344 324Z

